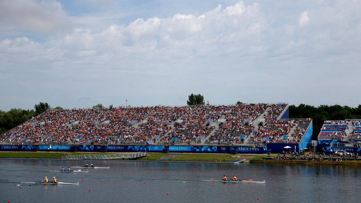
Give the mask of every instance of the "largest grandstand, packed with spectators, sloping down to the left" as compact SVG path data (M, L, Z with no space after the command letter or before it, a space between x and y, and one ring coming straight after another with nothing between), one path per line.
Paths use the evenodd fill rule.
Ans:
M265 146L301 143L310 126L310 119L288 119L286 103L49 109L0 135L0 141L1 144ZM358 125L355 134L360 131Z

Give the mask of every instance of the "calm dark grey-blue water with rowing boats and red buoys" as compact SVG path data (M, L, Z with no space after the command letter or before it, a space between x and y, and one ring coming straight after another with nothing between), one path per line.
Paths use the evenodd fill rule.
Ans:
M0 202L360 202L361 198L361 167L93 161L111 168L79 175L47 172L84 163L0 160ZM200 181L223 174L266 183ZM44 176L80 185L16 186Z

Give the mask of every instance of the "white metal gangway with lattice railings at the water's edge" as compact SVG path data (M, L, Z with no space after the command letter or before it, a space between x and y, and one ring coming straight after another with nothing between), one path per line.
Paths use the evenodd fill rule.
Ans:
M135 159L147 156L148 152L134 152L122 154L81 154L81 155L62 155L62 159Z

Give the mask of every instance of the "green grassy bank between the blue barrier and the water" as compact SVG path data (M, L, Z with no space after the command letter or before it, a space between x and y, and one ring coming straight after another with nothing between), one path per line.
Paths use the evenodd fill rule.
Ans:
M345 160L345 161L313 161L313 160L278 160L276 154L272 154L272 160L264 159L266 154L207 154L207 153L148 153L148 156L139 159L62 159L62 155L79 155L79 154L114 154L110 152L12 152L1 151L0 160L68 160L68 161L139 161L139 162L167 162L167 163L211 163L211 164L238 164L233 163L235 160L242 160L242 163L255 164L302 164L302 165L345 165L345 166L361 166L361 160Z

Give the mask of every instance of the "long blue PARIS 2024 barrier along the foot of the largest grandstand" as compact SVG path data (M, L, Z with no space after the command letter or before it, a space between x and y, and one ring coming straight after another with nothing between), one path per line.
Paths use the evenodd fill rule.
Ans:
M34 151L39 147L40 151L48 151L49 145L1 145L1 151ZM229 154L233 146L156 146L156 145L52 145L52 151L80 151L80 152L100 152L106 148L108 152L162 152L169 148L169 152L188 153L225 153ZM236 147L239 154L264 154L266 147Z

